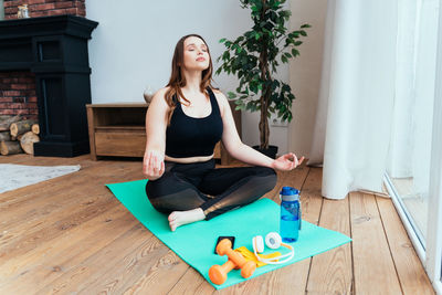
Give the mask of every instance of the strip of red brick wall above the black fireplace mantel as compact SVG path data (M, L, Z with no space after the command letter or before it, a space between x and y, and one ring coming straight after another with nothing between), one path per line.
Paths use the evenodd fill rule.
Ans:
M74 14L86 17L85 0L4 0L4 19L17 19L19 6L28 4L30 18Z

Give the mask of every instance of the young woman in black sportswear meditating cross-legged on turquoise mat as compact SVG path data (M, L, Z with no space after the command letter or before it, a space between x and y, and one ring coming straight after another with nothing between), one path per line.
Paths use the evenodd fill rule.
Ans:
M204 40L181 38L169 83L146 114L146 192L157 211L169 214L172 231L257 200L274 188L274 169L288 171L304 160L292 152L274 160L244 145L228 99L210 83L212 69ZM220 139L230 155L253 167L215 169Z

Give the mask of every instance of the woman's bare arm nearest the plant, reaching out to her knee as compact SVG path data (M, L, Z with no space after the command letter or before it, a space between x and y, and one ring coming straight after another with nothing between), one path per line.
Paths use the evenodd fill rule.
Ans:
M264 166L277 170L292 170L302 164L304 157L298 160L293 152L288 152L274 160L254 148L244 145L238 135L232 110L227 97L221 92L215 92L215 94L223 122L222 143L231 156L250 165Z

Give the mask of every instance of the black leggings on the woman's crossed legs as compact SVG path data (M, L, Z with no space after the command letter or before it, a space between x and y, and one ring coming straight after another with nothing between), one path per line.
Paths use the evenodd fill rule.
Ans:
M214 169L214 159L196 164L166 161L161 178L147 181L146 193L162 213L201 208L206 219L249 204L276 185L276 173L265 167Z

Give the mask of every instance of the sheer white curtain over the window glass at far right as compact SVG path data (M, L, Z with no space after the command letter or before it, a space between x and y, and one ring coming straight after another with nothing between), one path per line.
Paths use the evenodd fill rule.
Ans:
M427 198L434 103L439 0L399 4L398 71L387 171L413 179L407 197Z

